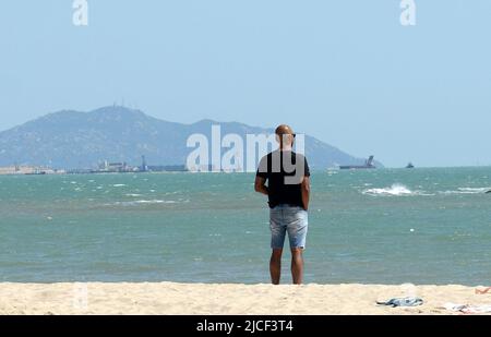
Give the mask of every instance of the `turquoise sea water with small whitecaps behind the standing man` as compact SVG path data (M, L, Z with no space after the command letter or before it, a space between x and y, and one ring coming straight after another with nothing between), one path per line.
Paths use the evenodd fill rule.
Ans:
M490 178L491 168L313 172L306 281L489 284ZM0 281L267 282L268 213L253 179L0 177Z

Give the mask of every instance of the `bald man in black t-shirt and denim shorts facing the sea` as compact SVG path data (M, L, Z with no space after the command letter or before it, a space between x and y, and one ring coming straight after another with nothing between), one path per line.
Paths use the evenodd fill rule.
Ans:
M279 148L261 159L254 188L268 197L273 250L270 261L271 280L273 285L279 285L282 253L288 232L291 276L295 285L301 285L310 197L309 165L304 156L292 151L295 133L290 127L279 125L275 133Z

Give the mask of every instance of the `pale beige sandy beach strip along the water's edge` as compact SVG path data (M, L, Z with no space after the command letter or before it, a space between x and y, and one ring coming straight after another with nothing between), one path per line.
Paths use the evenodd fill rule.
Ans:
M375 304L410 294L424 304ZM462 314L443 309L446 302L491 304L491 293L464 286L0 284L0 314Z

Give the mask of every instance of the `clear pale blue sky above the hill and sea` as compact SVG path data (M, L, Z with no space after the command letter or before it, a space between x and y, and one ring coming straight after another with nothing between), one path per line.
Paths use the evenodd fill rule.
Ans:
M390 167L491 165L491 1L0 4L0 130L123 104L297 132Z

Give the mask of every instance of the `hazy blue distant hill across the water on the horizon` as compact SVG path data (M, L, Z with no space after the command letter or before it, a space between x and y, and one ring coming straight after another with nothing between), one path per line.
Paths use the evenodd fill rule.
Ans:
M273 131L212 120L173 123L118 106L91 112L65 110L0 132L0 166L93 168L106 159L139 165L142 155L148 165L183 165L192 151L187 147L189 135L209 136L213 124L221 125L223 135ZM313 169L364 161L308 135L306 154Z

